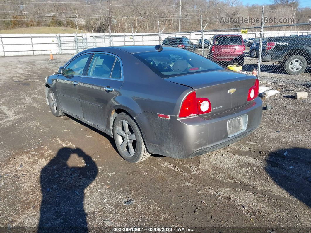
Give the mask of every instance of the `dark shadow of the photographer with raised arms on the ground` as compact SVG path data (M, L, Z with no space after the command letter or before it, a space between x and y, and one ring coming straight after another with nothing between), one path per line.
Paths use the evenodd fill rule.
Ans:
M83 166L69 167L72 154ZM91 156L79 148L61 148L41 170L42 203L38 232L87 232L84 190L96 178L98 168Z

